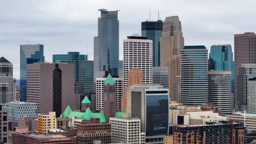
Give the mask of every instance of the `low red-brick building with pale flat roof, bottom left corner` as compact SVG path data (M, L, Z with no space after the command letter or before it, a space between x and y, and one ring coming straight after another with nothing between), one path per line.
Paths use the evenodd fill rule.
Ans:
M64 135L40 135L35 131L27 131L26 133L12 133L13 144L77 144L77 136Z

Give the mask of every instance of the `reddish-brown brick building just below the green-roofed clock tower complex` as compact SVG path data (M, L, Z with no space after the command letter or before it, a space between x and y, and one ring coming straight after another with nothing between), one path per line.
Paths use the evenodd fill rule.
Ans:
M99 118L92 118L91 121L83 121L77 125L78 144L90 144L96 140L111 143L111 124L100 123Z

